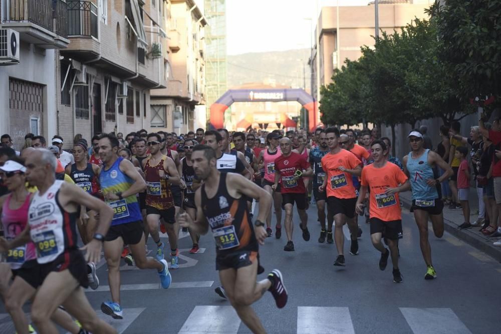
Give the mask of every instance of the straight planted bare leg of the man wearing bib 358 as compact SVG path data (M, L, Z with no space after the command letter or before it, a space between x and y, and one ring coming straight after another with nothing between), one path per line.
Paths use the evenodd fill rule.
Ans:
M120 255L122 254L123 247L124 241L122 237L103 243L104 258L108 265L111 300L118 304L120 304ZM144 254L144 246L142 253Z

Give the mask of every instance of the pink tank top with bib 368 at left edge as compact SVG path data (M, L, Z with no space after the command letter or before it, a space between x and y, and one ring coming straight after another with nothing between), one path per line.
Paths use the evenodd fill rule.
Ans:
M28 209L30 207L30 194L26 197L23 205L16 210L9 208L12 194L10 194L2 207L2 224L4 225L5 238L11 240L23 232L28 224ZM25 261L37 258L35 244L29 242L26 245L9 250L6 262L12 269L19 269Z

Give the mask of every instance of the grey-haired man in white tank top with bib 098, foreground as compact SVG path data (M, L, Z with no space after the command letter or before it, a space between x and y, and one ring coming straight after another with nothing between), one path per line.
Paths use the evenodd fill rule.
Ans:
M29 209L29 227L18 239L25 244L31 238L37 250L37 263L30 279L38 287L31 318L42 333L57 333L51 315L59 305L76 317L83 328L92 332L115 333L109 324L100 320L84 294L88 286L86 262L98 262L103 234L108 230L112 210L102 201L77 186L55 179L55 156L46 149L31 153L26 161L27 180L38 188ZM100 221L94 235L83 249L77 248L75 227L79 206L99 212ZM82 287L81 287L82 286Z

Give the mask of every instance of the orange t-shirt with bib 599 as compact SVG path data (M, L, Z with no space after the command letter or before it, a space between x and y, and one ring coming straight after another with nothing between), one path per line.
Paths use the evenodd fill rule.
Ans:
M353 186L353 176L339 170L340 166L354 169L362 162L347 150L341 149L336 154L327 153L321 160L322 168L327 173L327 197L355 198L357 197Z

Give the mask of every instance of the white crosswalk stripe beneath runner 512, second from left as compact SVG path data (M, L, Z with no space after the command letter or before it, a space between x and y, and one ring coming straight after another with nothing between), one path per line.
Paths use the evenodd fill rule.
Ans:
M240 318L232 306L195 306L180 334L237 333Z

